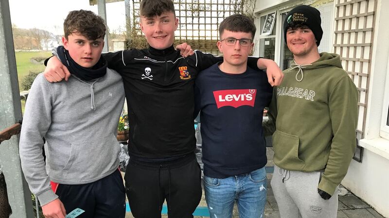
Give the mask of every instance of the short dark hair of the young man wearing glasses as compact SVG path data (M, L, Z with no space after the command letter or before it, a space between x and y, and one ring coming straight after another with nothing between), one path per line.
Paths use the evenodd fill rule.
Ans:
M249 32L254 39L255 31L257 28L254 25L254 21L245 15L231 15L224 19L219 25L219 35L221 36L224 30L233 32Z

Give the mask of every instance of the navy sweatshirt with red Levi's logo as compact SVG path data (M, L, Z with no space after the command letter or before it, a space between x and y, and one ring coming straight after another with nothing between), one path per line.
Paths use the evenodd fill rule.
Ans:
M195 80L195 115L200 111L204 174L227 178L267 162L262 118L272 87L263 71L226 74L219 64Z

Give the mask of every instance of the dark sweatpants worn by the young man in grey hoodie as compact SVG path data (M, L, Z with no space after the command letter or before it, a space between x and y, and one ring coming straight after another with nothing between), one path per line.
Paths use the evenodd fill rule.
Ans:
M76 208L85 212L77 218L124 218L125 189L119 170L93 183L58 184L55 194L69 214Z

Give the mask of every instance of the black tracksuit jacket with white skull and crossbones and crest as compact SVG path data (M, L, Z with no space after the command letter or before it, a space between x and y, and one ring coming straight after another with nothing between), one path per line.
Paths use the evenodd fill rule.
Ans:
M170 158L195 150L194 81L221 56L195 51L183 58L174 47L149 47L103 54L124 82L130 156ZM258 58L249 58L257 69Z

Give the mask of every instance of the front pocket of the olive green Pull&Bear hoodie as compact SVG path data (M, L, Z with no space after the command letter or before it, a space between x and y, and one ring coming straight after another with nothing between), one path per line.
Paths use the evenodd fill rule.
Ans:
M290 170L302 170L305 166L299 158L300 139L296 135L276 130L273 134L274 163Z

